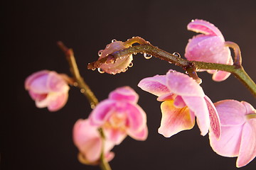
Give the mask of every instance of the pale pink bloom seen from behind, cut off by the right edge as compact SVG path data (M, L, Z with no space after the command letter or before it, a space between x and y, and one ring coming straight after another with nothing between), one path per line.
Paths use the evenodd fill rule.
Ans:
M256 111L245 101L215 103L220 116L221 136L209 133L213 150L224 157L238 157L236 166L245 166L256 157Z

